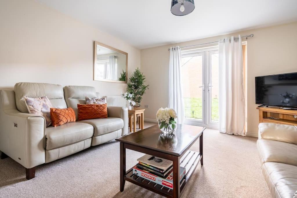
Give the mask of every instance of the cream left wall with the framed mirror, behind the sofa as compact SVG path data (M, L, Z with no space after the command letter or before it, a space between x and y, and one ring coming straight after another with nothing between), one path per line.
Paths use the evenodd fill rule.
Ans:
M17 82L94 86L119 95L124 83L93 81L94 41L128 53L128 75L140 50L33 0L0 1L0 89Z

